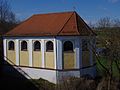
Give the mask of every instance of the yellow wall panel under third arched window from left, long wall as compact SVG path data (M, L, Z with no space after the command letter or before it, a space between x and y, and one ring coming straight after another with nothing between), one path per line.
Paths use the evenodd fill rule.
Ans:
M33 51L33 67L42 66L42 57L40 51Z

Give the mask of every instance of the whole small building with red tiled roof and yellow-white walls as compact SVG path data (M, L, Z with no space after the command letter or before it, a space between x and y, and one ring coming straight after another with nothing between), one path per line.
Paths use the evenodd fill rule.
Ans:
M53 83L95 77L95 37L76 12L37 14L3 36L4 59L33 79Z

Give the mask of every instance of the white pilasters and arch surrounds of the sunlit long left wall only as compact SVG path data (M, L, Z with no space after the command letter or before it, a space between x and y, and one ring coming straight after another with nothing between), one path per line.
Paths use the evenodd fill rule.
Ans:
M45 52L45 47L46 47L46 42L47 41L52 41L54 44L54 60L55 60L55 66L56 68L56 40L54 37L3 37L3 45L4 45L4 56L7 57L7 40L14 40L15 41L15 50L16 50L16 65L19 65L19 56L20 56L20 48L21 48L21 41L25 40L28 42L28 51L29 51L29 66L32 67L33 65L33 58L32 58L32 50L33 50L33 44L32 41L34 40L40 40L41 41L41 51L42 51L42 68L44 68L44 52ZM6 58L4 58L6 60Z

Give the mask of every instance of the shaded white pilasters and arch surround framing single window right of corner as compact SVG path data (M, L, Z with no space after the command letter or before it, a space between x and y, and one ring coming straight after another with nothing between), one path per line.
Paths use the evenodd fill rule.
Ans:
M81 55L81 37L80 36L58 36L56 37L57 39L57 69L62 69L63 67L63 43L65 41L71 41L73 43L73 48L75 52L75 69L79 69L82 58L80 57Z

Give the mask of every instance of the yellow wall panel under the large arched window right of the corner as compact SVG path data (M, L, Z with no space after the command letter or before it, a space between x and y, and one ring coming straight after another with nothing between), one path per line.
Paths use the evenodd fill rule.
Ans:
M64 69L74 69L75 62L74 53L64 52Z

